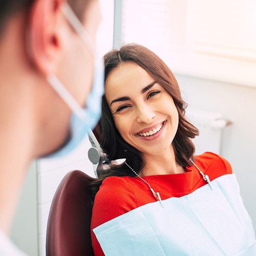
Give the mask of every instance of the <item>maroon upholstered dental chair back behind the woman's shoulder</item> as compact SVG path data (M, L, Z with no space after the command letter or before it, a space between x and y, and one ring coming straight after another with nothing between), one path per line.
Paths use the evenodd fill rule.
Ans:
M47 256L94 255L90 223L92 207L88 183L93 181L85 173L67 173L52 201L46 238Z

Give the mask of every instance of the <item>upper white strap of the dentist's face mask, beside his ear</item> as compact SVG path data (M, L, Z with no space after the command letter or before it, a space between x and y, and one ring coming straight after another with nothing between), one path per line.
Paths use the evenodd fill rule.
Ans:
M88 46L91 54L95 54L95 47L94 47L94 42L91 39L90 35L86 31L85 27L81 24L81 21L77 18L71 7L67 4L64 3L61 7L61 11L70 23L70 25L74 28L76 33L80 35L81 39L83 42Z

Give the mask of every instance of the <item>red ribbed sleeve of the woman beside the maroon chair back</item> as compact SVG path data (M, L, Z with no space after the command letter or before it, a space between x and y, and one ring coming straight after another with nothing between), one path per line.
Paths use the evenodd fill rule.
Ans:
M137 208L135 195L121 177L108 177L95 196L91 221L92 245L95 256L104 255L93 229L132 209Z

